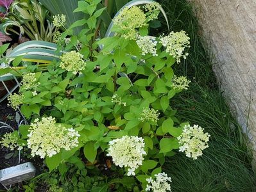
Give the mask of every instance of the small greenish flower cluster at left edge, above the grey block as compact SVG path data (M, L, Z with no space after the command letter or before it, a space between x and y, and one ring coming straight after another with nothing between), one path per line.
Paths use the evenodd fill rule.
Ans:
M10 150L14 150L17 148L18 150L22 150L22 145L18 144L18 138L14 134L6 133L0 141L2 147L10 148Z

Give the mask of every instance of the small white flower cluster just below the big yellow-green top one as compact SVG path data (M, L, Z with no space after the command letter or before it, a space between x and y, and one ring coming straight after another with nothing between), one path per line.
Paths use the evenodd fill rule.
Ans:
M139 48L142 50L142 55L148 53L153 56L157 56L157 41L150 36L139 36L139 39L136 41Z

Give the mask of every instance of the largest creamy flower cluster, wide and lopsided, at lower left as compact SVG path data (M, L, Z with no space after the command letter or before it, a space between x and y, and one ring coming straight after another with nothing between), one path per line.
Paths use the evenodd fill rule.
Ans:
M71 150L78 146L78 134L73 128L67 129L62 125L57 125L55 118L43 117L41 121L35 119L31 124L28 134L28 148L31 148L31 155L40 156L42 159L51 157L61 148Z

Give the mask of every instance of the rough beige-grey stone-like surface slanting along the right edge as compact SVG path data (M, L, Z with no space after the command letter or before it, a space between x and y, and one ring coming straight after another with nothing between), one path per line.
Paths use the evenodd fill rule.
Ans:
M256 0L190 0L216 58L214 72L256 160Z

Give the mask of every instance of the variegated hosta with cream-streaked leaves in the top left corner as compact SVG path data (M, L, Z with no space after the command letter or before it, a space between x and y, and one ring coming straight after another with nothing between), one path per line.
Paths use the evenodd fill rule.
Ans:
M46 19L48 12L42 4L37 0L15 0L9 6L10 11L6 12L6 17L1 21L4 33L26 35L30 40L53 42L58 28Z

